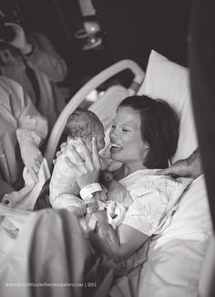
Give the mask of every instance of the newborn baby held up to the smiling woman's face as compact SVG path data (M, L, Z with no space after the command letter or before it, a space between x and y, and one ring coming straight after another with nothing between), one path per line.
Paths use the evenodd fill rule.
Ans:
M78 138L82 138L89 151L92 150L92 138L97 138L98 150L105 146L104 128L97 116L87 109L77 109L67 119L66 126L67 146L56 159L56 164L50 181L49 200L55 209L67 209L72 211L77 217L82 217L87 212L86 204L78 198L79 186L74 170L67 163L66 157L73 162L73 156L70 150L71 145L77 149L79 155L83 158ZM101 158L102 170L101 178L107 187L107 196L101 202L103 207L107 209L107 217L109 223L117 228L123 219L125 210L132 202L127 189L121 186L117 180L113 179L111 172L107 170L107 161ZM80 165L81 166L81 165Z

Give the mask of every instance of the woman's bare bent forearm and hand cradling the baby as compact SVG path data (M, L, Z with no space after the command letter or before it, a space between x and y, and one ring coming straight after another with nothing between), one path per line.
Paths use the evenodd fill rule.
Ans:
M69 159L67 161L74 167L78 185L83 189L97 182L100 172L100 161L95 138L92 141L92 155L81 139L80 145L82 146L85 162L83 163L83 159L81 159L75 148L71 148L71 150L76 161L74 163ZM137 251L148 240L148 235L123 224L115 231L108 224L106 210L97 210L97 201L102 200L100 196L103 195L104 193L102 191L94 193L94 206L91 204L88 208L88 212L90 212L87 214L89 238L99 251L107 254L108 257L115 261L122 260L134 251Z

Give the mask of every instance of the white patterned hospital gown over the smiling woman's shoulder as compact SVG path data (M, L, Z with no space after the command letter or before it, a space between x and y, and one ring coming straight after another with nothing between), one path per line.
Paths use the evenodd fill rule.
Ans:
M186 182L157 172L158 169L138 170L122 180L133 200L124 223L148 236L159 230L160 221L163 223L169 218L188 186Z

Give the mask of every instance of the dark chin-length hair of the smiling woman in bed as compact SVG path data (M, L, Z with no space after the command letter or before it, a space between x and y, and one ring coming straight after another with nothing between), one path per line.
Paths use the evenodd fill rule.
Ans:
M141 120L141 136L148 142L148 155L144 165L149 169L164 169L177 148L179 118L169 104L147 96L126 97L118 108L136 110Z

